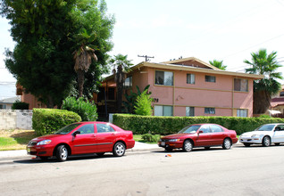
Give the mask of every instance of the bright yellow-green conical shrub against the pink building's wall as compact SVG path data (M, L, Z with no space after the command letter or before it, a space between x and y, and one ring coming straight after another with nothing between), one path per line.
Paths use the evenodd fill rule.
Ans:
M153 99L150 97L150 94L147 94L144 91L142 94L138 95L136 104L134 106L135 113L142 116L151 116L152 115L152 102Z

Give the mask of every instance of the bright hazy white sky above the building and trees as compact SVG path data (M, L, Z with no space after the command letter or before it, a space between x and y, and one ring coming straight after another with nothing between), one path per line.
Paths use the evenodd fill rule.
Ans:
M250 53L260 48L278 52L279 61L284 62L283 0L105 2L116 19L110 54L128 54L134 64L145 60L138 55L155 56L151 59L155 62L182 56L222 60L228 70L242 71L247 68L243 61L251 60ZM9 29L8 21L1 19L0 99L1 82L15 81L4 69L4 48L14 45Z

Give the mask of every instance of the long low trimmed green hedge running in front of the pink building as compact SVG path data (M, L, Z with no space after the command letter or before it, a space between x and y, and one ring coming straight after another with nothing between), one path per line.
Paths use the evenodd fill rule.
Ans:
M284 123L284 118L240 118L240 117L154 117L129 114L113 114L113 124L131 130L133 134L170 135L190 124L214 123L231 130L237 135L253 131L267 123Z

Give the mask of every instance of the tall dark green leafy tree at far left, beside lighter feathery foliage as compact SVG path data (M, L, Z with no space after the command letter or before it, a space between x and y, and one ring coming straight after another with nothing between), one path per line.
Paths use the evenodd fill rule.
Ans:
M74 78L68 35L75 1L1 2L1 14L10 20L13 52L6 50L5 65L24 87L49 108L61 101Z

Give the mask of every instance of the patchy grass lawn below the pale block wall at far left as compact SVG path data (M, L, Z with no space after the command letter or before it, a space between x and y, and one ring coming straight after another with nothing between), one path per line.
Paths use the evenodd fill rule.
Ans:
M0 151L24 150L35 137L34 130L0 130Z

